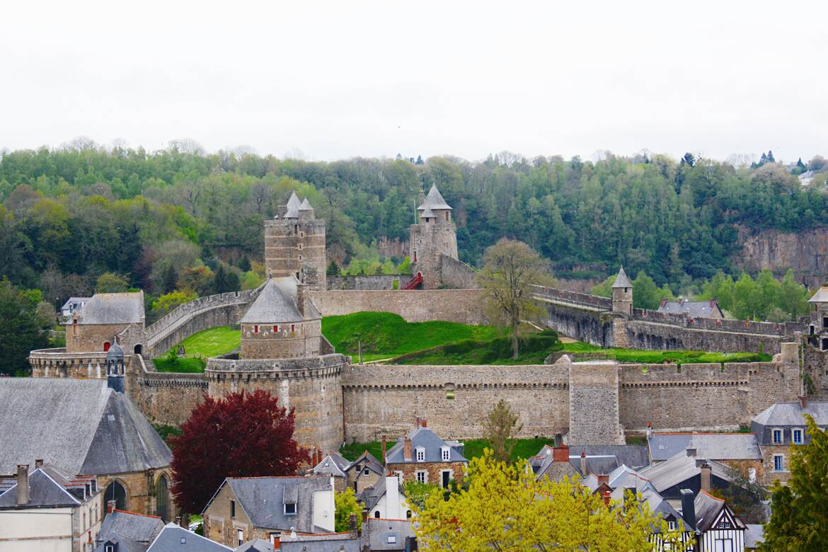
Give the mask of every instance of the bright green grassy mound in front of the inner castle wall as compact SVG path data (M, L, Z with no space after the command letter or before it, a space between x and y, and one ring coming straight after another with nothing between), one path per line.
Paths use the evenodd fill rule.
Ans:
M361 341L363 361L370 361L463 339L485 341L503 334L503 330L441 320L406 322L398 314L359 312L326 316L322 319L322 334L337 352L354 356Z

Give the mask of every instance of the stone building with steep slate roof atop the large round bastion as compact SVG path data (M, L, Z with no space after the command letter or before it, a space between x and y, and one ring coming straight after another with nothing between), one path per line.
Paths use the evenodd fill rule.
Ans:
M241 358L315 357L327 343L322 315L294 276L268 280L240 325Z

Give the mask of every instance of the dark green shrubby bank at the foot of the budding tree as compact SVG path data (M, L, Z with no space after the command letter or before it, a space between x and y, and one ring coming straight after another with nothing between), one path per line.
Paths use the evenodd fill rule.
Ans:
M561 350L558 334L546 329L520 338L520 356L512 358L512 339L485 341L463 339L393 359L395 364L542 364L553 351Z

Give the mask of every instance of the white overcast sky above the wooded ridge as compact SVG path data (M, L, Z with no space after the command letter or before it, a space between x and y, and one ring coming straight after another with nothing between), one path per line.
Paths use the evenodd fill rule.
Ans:
M828 2L3 2L0 148L828 156Z

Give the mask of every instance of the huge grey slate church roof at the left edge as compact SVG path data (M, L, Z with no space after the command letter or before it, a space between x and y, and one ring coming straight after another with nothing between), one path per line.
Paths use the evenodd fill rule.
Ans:
M164 468L172 454L132 401L105 380L0 378L0 473L43 458L67 473Z

